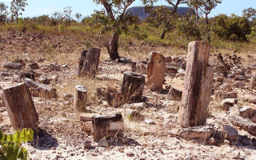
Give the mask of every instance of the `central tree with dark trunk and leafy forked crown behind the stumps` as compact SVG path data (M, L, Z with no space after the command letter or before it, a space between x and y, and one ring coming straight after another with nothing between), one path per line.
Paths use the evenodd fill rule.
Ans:
M142 0L146 3L148 0ZM92 14L92 23L101 27L101 34L112 32L109 42L105 43L110 59L120 59L118 54L118 38L122 32L127 32L128 25L133 24L136 18L131 14L126 14L127 8L135 0L94 0L97 5L104 6L103 10L96 10Z

